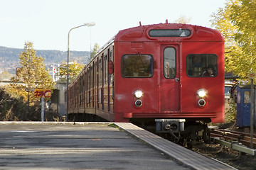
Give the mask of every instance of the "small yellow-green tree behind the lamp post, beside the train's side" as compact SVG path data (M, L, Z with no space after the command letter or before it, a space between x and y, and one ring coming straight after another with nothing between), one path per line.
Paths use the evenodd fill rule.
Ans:
M70 80L69 82L72 82L75 79L75 77L77 77L78 74L80 74L83 67L84 65L78 62L70 62L68 64L68 78ZM58 76L60 78L60 81L64 81L64 79L66 79L65 77L67 76L67 62L63 62L63 64L60 65Z

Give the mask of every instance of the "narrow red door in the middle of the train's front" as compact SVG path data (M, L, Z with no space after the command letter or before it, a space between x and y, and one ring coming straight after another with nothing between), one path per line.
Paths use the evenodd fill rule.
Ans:
M178 45L161 45L160 109L180 110Z

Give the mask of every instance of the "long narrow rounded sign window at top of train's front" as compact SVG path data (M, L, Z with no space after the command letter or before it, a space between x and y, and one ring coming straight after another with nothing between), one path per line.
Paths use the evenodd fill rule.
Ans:
M191 30L188 29L165 29L165 30L149 30L151 37L189 37Z

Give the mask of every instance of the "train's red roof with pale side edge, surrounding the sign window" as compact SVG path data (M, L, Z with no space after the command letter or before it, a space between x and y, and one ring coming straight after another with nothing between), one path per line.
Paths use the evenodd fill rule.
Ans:
M124 42L124 41L144 41L149 42L159 40L159 37L150 37L150 30L190 30L190 36L178 36L173 37L172 40L186 40L193 41L195 39L201 41L224 41L223 36L218 30L214 30L212 28L206 28L203 26L196 26L191 24L183 24L183 23L158 23L152 25L142 26L141 22L139 22L139 26L133 28L127 28L124 30L119 30L117 35L114 35L105 45L103 45L100 50L97 51L97 54L105 50L105 48L110 45L112 42ZM144 35L144 36L143 36ZM170 37L160 37L163 41L170 41ZM171 41L172 41L171 40Z

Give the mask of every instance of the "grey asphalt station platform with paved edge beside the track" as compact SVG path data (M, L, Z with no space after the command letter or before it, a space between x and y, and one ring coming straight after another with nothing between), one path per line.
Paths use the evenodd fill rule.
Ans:
M0 136L0 169L233 169L131 123L0 122Z

